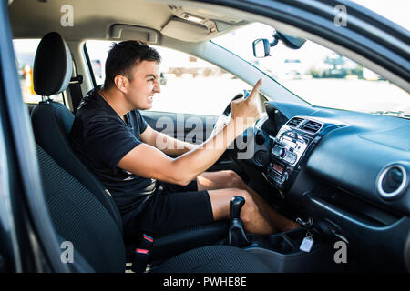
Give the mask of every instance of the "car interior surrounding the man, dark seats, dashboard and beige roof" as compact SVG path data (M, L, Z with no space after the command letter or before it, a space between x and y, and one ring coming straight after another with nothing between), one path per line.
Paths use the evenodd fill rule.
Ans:
M33 85L42 101L26 104L25 114L30 116L36 145L36 156L31 158L38 160L53 232L58 245L70 241L75 248L76 259L67 264L68 272L410 270L410 144L406 137L410 120L310 105L210 40L252 22L264 22L349 55L391 77L406 92L410 90L405 77L408 66L400 68L405 72L402 75L399 69L392 73L352 48L308 33L302 25L213 1L72 0L72 26L63 25L64 5L59 0L13 0L7 9L13 39L41 39ZM190 15L200 17L201 23L188 20ZM402 34L408 48L408 32ZM112 196L75 155L68 134L81 98L97 85L86 41L128 39L194 55L249 85L263 79L258 99L263 115L241 136L253 145L252 155L238 158L244 150L235 144L209 171L235 171L275 210L301 227L271 236L245 233L237 221L238 202L231 219L225 221L148 236L148 241L139 232L124 236ZM405 67L409 54L402 56L407 57ZM217 88L209 89L211 95ZM231 98L242 97L241 89ZM60 93L63 103L53 100ZM229 108L220 116L196 115L203 126L195 142L210 137L212 129L229 115ZM190 137L192 127L184 124L193 115L184 115L182 121L172 112L141 111L141 115L158 131L163 130L159 117L167 116L184 128L183 136L175 129L167 134ZM303 249L309 240L312 245ZM347 247L347 257L338 252L341 246ZM138 249L149 249L149 254ZM343 257L342 263L338 256Z

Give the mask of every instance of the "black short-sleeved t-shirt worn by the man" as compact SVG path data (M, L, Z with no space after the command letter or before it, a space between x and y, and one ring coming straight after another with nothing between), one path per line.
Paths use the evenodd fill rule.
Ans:
M127 122L98 94L87 93L78 106L70 141L77 156L113 196L123 218L137 216L157 189L157 181L134 175L117 166L119 160L142 142L147 122L138 110L125 115ZM127 219L125 219L127 220Z

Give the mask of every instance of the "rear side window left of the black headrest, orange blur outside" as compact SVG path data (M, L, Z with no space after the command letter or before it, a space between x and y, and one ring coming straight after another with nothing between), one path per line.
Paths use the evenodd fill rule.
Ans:
M15 48L15 65L20 80L21 92L23 95L23 101L26 104L37 104L41 101L42 97L36 95L33 86L33 65L36 56L36 49L40 39L15 39L13 45ZM53 95L51 98L63 103L63 95Z

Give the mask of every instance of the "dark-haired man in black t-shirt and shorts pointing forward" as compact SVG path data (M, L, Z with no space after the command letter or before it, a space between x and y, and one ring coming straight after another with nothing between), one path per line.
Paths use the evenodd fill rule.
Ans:
M114 197L125 232L169 233L226 219L233 196L245 198L241 219L248 232L272 234L298 226L233 171L204 172L256 121L253 99L261 80L246 100L231 103L230 121L196 146L157 132L139 113L151 108L160 92L159 62L158 52L144 43L114 44L105 83L83 98L70 133L77 154Z

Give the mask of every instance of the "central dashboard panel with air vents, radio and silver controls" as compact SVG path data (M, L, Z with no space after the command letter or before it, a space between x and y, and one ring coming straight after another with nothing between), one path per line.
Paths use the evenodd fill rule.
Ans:
M282 126L273 138L270 163L265 176L281 190L292 186L305 157L320 139L323 123L306 118L293 117Z

